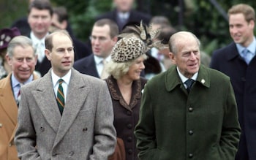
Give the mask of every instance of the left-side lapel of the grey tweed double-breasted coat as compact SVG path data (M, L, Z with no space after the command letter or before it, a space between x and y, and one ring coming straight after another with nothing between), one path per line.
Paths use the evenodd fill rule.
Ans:
M32 93L42 115L45 116L52 129L58 132L61 113L55 99L50 71L40 79L37 89Z

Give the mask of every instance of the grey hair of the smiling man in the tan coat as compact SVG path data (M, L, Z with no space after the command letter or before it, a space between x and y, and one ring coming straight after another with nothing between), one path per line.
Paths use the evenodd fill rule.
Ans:
M17 36L14 37L10 43L7 46L7 55L12 57L13 56L13 50L15 47L20 46L20 47L32 47L33 48L33 56L36 56L36 48L33 47L33 42L29 37L25 36Z

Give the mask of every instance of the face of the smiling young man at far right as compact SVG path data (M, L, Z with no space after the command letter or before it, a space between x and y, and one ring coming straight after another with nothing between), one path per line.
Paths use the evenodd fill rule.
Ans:
M251 20L249 23L245 20L242 13L230 15L229 17L229 28L230 36L233 38L233 41L241 44L244 47L252 42L253 39L253 29L255 23Z

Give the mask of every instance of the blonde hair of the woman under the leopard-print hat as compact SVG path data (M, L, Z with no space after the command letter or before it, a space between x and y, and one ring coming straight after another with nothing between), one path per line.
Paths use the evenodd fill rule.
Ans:
M147 58L146 54L143 54L139 56L138 58L143 57L144 59ZM118 80L121 77L123 77L127 72L129 71L129 66L135 63L137 58L132 59L131 61L125 61L125 62L115 62L113 60L110 60L107 64L106 71L113 75L113 77Z

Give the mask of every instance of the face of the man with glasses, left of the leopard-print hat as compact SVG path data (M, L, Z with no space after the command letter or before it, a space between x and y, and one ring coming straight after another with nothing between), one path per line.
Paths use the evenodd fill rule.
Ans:
M91 49L95 56L106 58L116 44L117 38L110 37L110 27L94 26L91 31Z

